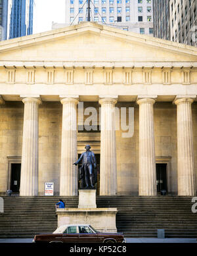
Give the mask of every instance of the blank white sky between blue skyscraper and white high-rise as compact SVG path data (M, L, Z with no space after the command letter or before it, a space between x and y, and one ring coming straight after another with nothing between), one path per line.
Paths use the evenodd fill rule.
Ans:
M33 34L51 30L52 22L65 23L65 0L34 0L34 3Z

